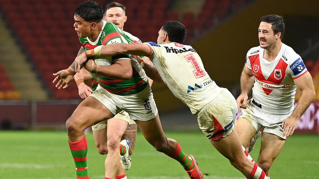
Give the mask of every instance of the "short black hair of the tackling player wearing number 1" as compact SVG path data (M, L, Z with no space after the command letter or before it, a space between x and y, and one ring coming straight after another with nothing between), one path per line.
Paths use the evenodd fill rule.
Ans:
M178 21L168 21L163 25L163 31L167 33L171 42L182 44L186 37L185 25Z

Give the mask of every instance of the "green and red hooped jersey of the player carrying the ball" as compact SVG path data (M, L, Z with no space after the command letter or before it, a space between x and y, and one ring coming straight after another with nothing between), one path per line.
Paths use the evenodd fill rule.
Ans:
M85 50L90 50L100 45L129 43L128 37L121 29L105 20L103 20L102 30L95 42L92 42L88 37L79 39L82 47ZM122 59L131 60L133 74L130 80L114 80L108 77L101 76L97 79L100 86L106 89L108 92L120 96L133 95L143 91L148 85L147 77L144 70L142 70L137 60L131 58L129 54L119 54L113 56L112 64L115 61Z

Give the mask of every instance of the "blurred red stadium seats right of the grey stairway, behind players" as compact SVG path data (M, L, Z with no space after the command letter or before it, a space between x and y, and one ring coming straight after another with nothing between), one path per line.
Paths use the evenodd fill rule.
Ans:
M251 1L251 0L250 0ZM19 43L30 55L36 70L56 99L78 98L76 84L58 90L52 84L52 73L67 68L81 47L74 31L73 11L82 0L0 0L0 8ZM97 0L102 7L109 2ZM142 41L157 40L161 26L169 20L179 20L187 28L185 43L189 43L213 25L221 22L231 11L232 4L243 6L249 0L206 0L199 14L171 11L173 0L117 0L127 7L128 21L124 30ZM141 20L143 19L143 20ZM12 88L10 83L2 82Z

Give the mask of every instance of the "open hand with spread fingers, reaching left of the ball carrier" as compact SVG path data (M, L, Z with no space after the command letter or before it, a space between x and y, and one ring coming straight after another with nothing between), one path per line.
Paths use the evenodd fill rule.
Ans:
M64 69L61 71L58 71L57 73L54 73L53 75L56 76L56 78L52 81L52 83L56 83L56 88L58 89L65 89L68 87L69 83L73 80L75 71L72 68Z

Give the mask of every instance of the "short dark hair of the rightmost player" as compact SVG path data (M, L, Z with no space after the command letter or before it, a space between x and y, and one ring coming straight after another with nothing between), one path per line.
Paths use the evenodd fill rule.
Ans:
M283 33L285 31L285 23L282 16L278 15L267 15L260 18L260 22L266 22L271 24L271 29L274 31L274 34L281 32L280 39L282 39Z

